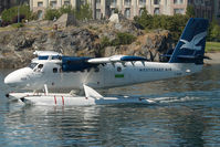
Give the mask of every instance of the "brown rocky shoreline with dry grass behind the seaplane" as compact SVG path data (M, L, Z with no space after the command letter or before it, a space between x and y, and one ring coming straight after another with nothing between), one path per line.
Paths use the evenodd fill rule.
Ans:
M113 45L117 33L129 33L136 40L130 44ZM71 56L111 56L116 54L145 56L148 61L159 61L159 55L175 48L170 32L154 30L146 33L134 22L83 22L77 25L54 29L54 22L34 21L24 28L0 30L0 69L25 66L33 52L52 50ZM211 61L220 63L217 53L208 53Z

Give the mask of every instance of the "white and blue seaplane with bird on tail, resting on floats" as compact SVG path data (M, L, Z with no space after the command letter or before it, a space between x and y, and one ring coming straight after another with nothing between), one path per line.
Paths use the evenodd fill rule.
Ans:
M96 90L187 76L202 70L208 20L191 18L171 53L161 55L167 62L148 62L143 56L109 57L65 56L54 51L35 51L29 66L10 73L4 83L32 91L9 93L7 97L33 105L98 105L153 101L138 96L103 96ZM49 93L71 88L78 93ZM43 93L38 91L43 90Z

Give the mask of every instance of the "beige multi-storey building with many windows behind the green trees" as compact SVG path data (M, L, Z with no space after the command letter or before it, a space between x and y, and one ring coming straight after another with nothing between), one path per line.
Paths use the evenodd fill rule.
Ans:
M30 7L41 19L45 8L56 9L67 4L78 8L86 2L91 4L94 19L109 18L116 10L127 19L140 15L144 9L150 14L185 14L189 4L195 7L196 17L211 19L214 12L213 0L30 0Z

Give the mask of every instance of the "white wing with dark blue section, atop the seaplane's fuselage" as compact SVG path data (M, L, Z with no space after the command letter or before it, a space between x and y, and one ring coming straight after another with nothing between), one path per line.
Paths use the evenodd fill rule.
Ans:
M142 56L129 56L129 55L114 55L109 57L96 57L87 60L88 63L103 64L103 63L114 63L114 62L126 62L126 61L147 61L146 57Z

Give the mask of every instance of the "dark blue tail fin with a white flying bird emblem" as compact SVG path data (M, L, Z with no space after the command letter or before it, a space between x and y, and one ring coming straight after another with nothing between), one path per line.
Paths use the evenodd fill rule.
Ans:
M189 19L169 63L203 64L208 25L209 22L206 19Z

